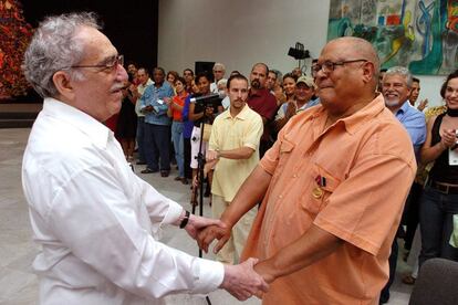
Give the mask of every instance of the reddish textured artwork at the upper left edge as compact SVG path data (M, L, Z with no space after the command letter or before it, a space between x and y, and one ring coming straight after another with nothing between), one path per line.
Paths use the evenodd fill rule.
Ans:
M29 84L21 71L32 28L15 0L0 0L0 99L24 95Z

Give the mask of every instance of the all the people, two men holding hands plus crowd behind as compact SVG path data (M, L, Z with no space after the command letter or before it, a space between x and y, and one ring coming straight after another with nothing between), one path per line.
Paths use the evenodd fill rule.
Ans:
M160 304L219 287L263 304L377 304L389 299L398 238L417 269L458 261L458 71L439 107L357 38L330 41L310 76L266 63L248 77L225 78L222 63L211 72L124 67L91 13L40 24L24 73L44 107L22 177L43 303ZM176 162L175 180L196 189L199 152L214 220L128 166L168 177ZM164 223L205 251L218 240L219 262L158 242Z

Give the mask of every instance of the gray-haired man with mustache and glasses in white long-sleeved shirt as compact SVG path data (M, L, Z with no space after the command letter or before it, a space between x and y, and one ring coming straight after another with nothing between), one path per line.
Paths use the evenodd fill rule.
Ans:
M37 30L24 74L44 97L24 152L22 183L42 304L162 304L171 293L268 288L252 259L222 265L155 240L163 224L192 238L219 222L190 215L139 179L102 122L121 108L122 55L92 13L52 17ZM220 224L221 225L221 224Z

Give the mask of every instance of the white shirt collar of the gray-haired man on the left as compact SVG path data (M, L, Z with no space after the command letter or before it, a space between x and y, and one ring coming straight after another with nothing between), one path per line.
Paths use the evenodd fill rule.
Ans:
M52 97L44 98L43 114L56 117L59 120L72 125L74 128L90 137L95 145L102 148L106 147L110 137L114 137L113 132L101 122L69 104Z

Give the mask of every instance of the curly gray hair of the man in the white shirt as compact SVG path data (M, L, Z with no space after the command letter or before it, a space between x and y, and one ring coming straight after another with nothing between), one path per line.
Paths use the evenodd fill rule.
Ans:
M95 13L79 12L49 17L39 24L22 64L25 78L42 97L59 94L52 76L66 71L71 80L83 80L81 72L72 70L84 54L84 44L76 39L82 27L100 30Z

